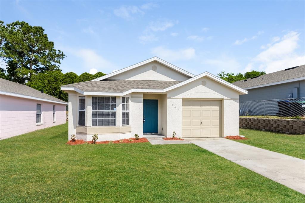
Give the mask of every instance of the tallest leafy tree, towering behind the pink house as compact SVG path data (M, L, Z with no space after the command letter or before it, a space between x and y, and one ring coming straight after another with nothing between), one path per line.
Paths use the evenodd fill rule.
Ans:
M2 56L7 61L11 80L24 84L33 73L59 70L65 55L54 48L42 27L23 21L7 24L5 28L0 26L0 36L5 36Z

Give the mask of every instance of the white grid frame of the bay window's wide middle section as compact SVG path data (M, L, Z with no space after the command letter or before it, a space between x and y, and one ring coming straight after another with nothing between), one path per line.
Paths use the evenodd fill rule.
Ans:
M109 98L109 103L105 103L105 98ZM113 102L114 101L114 102ZM109 104L109 109L108 109ZM107 106L107 109L105 109ZM116 126L117 125L117 98L114 96L92 96L91 100L91 126ZM105 118L105 112L109 112L109 117ZM94 114L96 114L94 116ZM114 118L113 118L114 116ZM96 118L95 118L96 117ZM105 119L109 119L109 125L105 125ZM102 125L99 125L99 121ZM113 125L111 125L111 121ZM96 122L94 125L93 122Z

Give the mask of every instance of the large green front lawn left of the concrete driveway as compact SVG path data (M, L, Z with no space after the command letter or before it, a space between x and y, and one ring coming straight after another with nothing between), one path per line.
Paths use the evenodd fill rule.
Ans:
M0 202L305 202L193 144L66 141L66 124L1 140Z

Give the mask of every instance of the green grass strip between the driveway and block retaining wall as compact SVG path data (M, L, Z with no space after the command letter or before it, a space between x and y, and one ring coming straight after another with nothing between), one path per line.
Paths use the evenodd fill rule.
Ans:
M235 140L255 147L305 159L305 135L274 133L270 131L240 129L248 140Z

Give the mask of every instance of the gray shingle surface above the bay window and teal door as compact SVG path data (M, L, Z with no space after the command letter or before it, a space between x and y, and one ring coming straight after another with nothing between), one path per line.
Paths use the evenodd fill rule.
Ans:
M82 91L90 92L118 92L122 93L131 89L156 89L163 90L182 81L160 81L160 80L100 80L86 81L63 85L61 87L76 87Z

